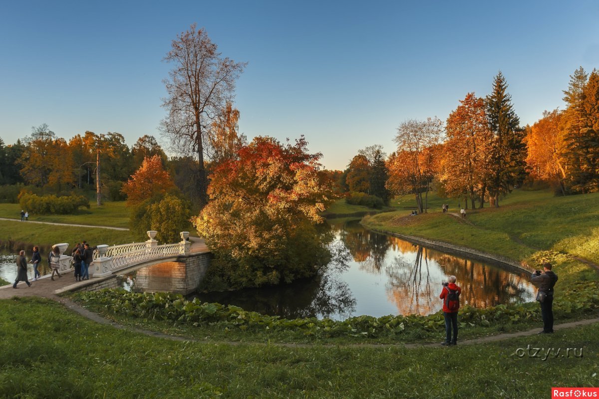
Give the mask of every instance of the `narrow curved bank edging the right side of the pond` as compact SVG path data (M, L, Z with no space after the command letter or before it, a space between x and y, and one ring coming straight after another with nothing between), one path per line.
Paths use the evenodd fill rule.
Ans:
M360 223L360 224L362 224L362 223ZM527 263L518 262L518 261L512 260L510 258L501 256L501 255L494 255L494 254L489 254L488 252L478 251L477 249L468 248L467 246L450 244L448 242L431 240L431 239L427 239L427 238L423 238L423 237L409 236L407 234L392 233L392 232L388 232L386 230L373 229L373 228L367 227L367 226L364 226L364 228L367 230L370 230L372 232L386 234L388 236L398 237L403 240L410 241L410 242L413 242L413 243L416 243L419 245L428 246L430 248L437 249L438 251L441 251L441 252L448 252L448 253L455 254L455 255L467 256L467 257L473 258L474 260L494 263L497 266L501 266L501 267L518 269L518 270L522 270L522 271L528 272L528 273L531 273L534 270L530 266L528 266Z

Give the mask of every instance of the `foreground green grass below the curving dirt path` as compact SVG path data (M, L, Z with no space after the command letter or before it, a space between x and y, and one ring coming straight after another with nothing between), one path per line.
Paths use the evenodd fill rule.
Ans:
M599 383L599 324L406 349L173 342L99 325L42 299L1 300L0 320L6 398L541 398L551 386ZM527 345L584 352L519 357Z

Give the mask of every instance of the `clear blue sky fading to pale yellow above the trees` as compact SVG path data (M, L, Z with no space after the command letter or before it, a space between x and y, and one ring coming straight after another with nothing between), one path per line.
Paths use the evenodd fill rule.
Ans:
M501 71L521 124L564 108L579 66L599 68L599 1L8 1L0 11L0 138L47 123L67 140L163 141L162 61L192 23L237 81L240 131L305 135L328 169L394 151L405 120L446 120ZM167 143L164 142L164 145Z

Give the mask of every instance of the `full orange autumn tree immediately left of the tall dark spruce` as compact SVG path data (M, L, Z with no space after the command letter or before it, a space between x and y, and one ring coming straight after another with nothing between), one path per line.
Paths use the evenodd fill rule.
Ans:
M470 197L475 208L484 206L486 184L490 176L492 133L486 118L485 100L468 93L449 114L447 140L440 157L439 181L451 197ZM468 202L464 199L465 207Z

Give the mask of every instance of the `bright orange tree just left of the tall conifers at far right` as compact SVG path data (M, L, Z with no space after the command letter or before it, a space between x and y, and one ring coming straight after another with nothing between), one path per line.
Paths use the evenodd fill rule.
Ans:
M563 112L544 111L543 118L527 129L527 164L534 178L553 182L565 195L567 159L564 154Z

